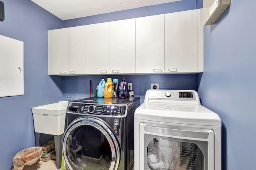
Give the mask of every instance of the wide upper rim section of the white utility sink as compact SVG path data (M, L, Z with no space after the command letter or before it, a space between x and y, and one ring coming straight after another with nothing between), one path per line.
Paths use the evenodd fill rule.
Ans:
M32 107L32 113L45 116L56 116L66 113L68 101L60 101L58 103L47 104L44 106Z

